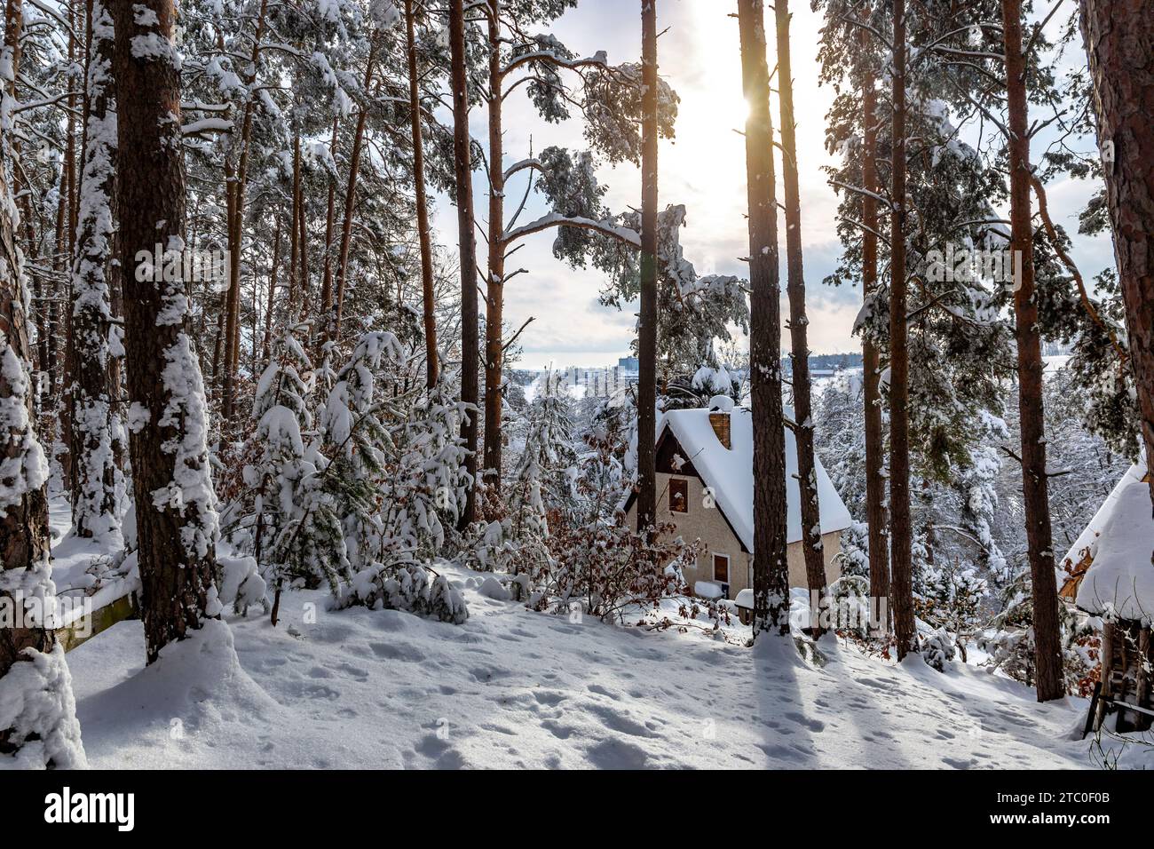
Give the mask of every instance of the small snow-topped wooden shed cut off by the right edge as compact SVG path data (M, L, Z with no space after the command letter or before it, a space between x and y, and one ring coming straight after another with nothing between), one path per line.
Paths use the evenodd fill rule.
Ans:
M1147 729L1154 721L1154 515L1145 462L1122 476L1061 566L1062 596L1103 618L1102 687L1094 727L1119 702L1118 730Z

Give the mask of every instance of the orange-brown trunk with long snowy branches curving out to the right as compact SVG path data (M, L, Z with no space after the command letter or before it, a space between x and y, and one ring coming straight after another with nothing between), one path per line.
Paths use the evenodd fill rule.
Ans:
M501 380L504 350L504 105L501 72L501 3L488 0L489 39L489 274L485 280L485 452L482 476L494 498L501 494Z

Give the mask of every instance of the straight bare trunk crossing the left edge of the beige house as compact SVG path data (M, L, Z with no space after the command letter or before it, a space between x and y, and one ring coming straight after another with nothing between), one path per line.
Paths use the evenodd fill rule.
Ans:
M642 255L637 321L637 533L657 517L657 0L642 0Z

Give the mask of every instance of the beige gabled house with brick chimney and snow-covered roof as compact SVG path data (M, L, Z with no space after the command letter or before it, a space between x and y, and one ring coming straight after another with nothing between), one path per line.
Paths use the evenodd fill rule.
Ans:
M717 402L718 399L714 399ZM790 418L790 411L786 411ZM797 445L786 427L786 539L789 586L804 587L801 491ZM685 542L700 539L703 551L685 582L699 595L735 598L754 586L754 424L748 409L714 403L713 409L670 410L657 427L657 520L676 526ZM834 561L849 511L820 461L817 462L822 543L827 581L840 569ZM625 502L629 522L637 520L636 498Z

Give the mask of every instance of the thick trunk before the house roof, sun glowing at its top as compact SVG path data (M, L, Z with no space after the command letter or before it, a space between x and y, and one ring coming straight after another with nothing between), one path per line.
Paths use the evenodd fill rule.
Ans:
M754 417L754 635L789 633L786 446L781 412L778 202L762 0L737 0L749 195L750 400Z

